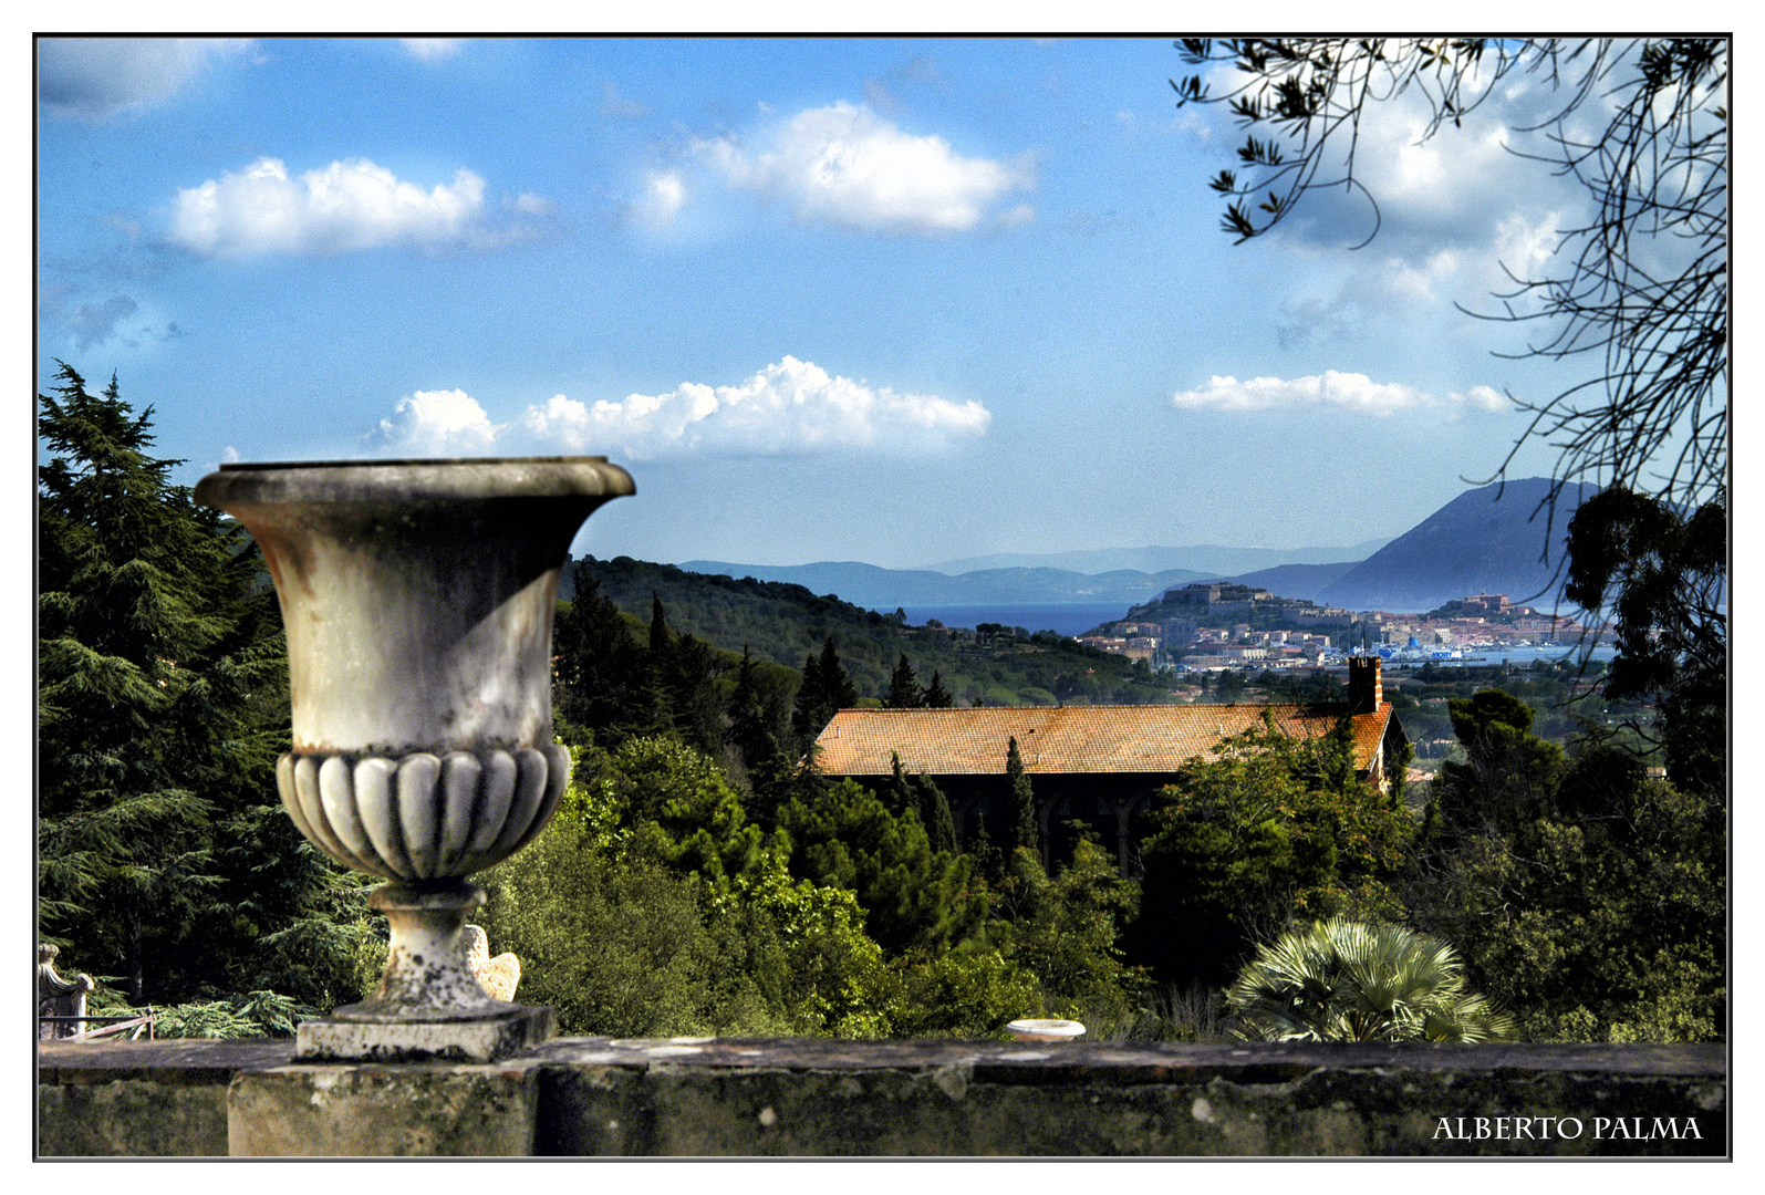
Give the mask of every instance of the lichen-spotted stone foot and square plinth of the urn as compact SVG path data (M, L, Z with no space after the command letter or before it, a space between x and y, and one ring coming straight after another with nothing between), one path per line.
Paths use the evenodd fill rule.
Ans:
M551 1008L494 999L473 976L461 930L484 906L484 888L381 884L367 904L392 927L387 973L360 1004L304 1022L295 1061L494 1063L558 1033Z

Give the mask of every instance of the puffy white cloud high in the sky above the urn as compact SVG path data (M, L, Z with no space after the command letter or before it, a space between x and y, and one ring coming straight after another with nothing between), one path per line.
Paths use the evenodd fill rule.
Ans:
M406 244L471 242L482 229L484 178L461 169L424 191L364 157L298 178L274 157L180 189L171 240L199 254L327 254Z

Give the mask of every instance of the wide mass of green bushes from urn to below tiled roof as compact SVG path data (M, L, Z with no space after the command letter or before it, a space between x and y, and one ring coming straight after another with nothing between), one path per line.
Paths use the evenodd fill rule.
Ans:
M1115 948L1131 884L1091 846L1052 879L1018 853L1001 891L934 851L916 808L852 784L792 798L770 833L676 740L577 748L552 826L485 872L480 923L524 1001L567 1033L990 1034L1017 1017L1128 1020Z

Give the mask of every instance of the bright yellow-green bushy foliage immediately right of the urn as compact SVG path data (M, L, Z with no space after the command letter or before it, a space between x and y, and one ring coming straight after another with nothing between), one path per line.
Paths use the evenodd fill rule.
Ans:
M849 891L794 881L717 764L579 750L552 824L484 874L480 923L565 1033L874 1036L886 983Z

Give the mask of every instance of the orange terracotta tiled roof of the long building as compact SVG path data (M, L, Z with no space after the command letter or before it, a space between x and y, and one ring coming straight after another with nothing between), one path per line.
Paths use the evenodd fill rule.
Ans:
M1260 725L1264 710L1280 729L1310 738L1327 733L1345 706L840 710L815 745L830 777L888 775L897 752L909 773L1003 775L1011 738L1031 775L1168 773L1209 754L1221 738ZM1354 766L1361 771L1371 768L1389 722L1389 701L1378 713L1354 715Z

